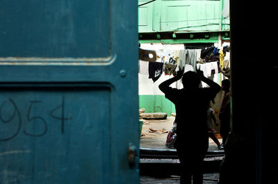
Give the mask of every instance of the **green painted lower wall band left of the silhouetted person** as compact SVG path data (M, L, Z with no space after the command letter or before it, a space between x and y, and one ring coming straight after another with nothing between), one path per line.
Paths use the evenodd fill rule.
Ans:
M139 95L139 108L145 108L145 112L165 112L168 116L176 113L174 103L166 99L164 95Z

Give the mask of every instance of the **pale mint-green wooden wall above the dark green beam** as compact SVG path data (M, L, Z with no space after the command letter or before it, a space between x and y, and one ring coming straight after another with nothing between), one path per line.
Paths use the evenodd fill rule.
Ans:
M147 4L145 11L139 10L139 22L153 20L145 26L139 24L139 33L229 30L229 19L223 19L222 9L223 0L157 0Z

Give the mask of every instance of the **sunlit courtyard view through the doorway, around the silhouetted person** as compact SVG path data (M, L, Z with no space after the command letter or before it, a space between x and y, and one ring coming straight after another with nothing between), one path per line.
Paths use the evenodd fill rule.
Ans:
M142 2L138 1L138 4ZM165 98L158 85L177 72L178 67L172 67L179 65L179 51L193 51L194 67L201 69L207 78L220 86L222 80L231 77L229 0L202 1L198 5L193 1L192 4L187 3L188 1L152 1L138 7L140 158L177 159L174 145L167 144L167 137L169 138L175 127L175 106ZM201 10L207 13L204 14ZM154 52L156 60L148 58L148 52ZM150 71L151 62L163 64ZM184 67L185 72L195 70L188 63ZM205 83L201 85L208 87ZM183 86L181 81L177 81L171 87L181 89ZM217 94L214 103L211 102L219 124L221 98L222 91ZM221 144L220 125L213 124L213 129ZM223 158L224 150L209 138L206 159L218 159L220 163Z

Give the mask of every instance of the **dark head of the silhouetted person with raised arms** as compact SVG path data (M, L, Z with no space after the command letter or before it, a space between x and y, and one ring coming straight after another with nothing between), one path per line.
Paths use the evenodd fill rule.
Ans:
M182 84L183 87L190 88L190 89L197 89L199 88L199 84L201 80L196 72L186 72L183 74L182 77Z

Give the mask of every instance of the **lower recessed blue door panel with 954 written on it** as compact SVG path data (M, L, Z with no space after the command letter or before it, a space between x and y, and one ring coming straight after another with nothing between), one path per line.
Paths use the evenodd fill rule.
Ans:
M34 183L71 183L67 178L111 183L111 87L74 88L2 90L0 141L6 151L1 167L20 173L18 181L28 183L25 176L31 173ZM11 145L15 146L10 151ZM60 178L68 172L71 177ZM8 177L17 176L13 174Z

